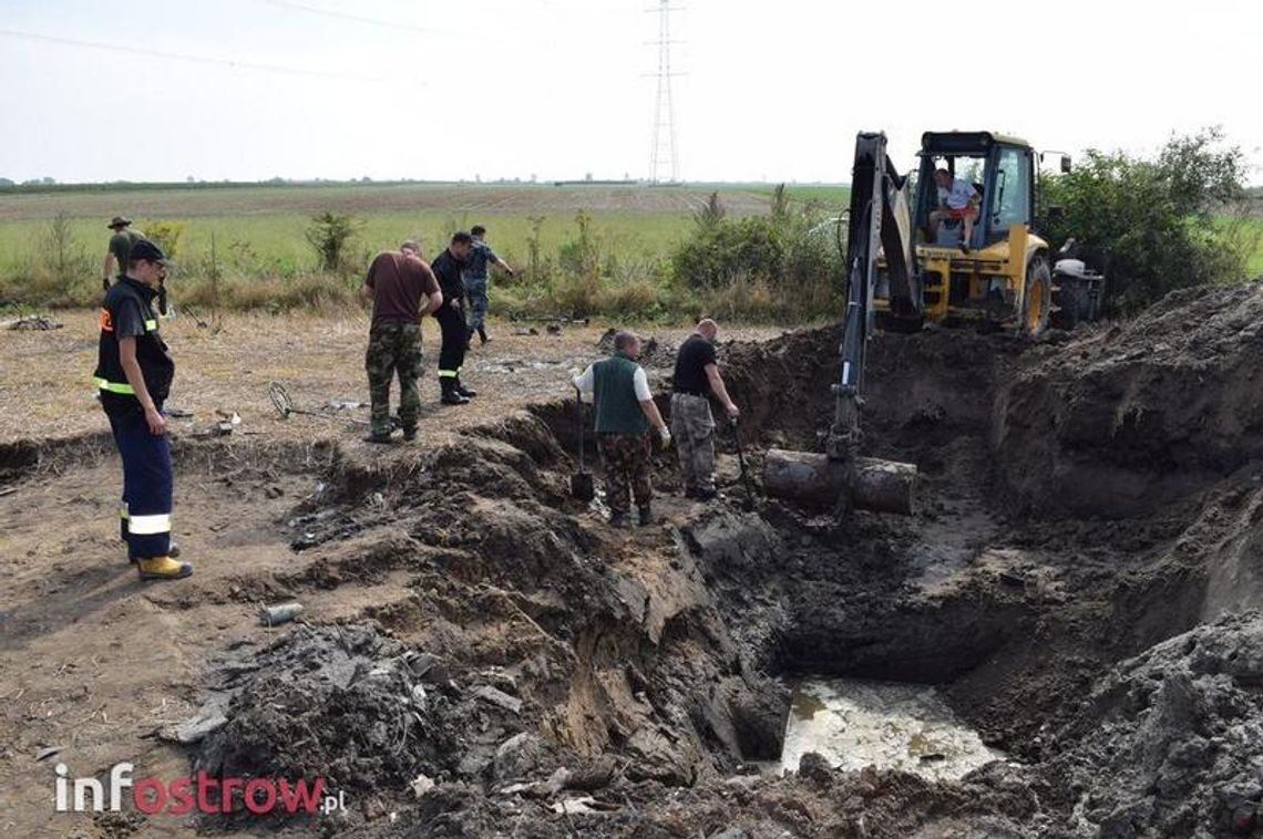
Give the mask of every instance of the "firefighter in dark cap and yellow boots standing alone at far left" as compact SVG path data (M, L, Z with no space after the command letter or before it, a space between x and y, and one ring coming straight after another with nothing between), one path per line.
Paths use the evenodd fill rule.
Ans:
M140 579L179 579L193 573L173 558L172 468L162 405L176 373L158 333L154 302L167 274L157 245L131 246L125 275L101 305L96 384L123 457L123 532Z

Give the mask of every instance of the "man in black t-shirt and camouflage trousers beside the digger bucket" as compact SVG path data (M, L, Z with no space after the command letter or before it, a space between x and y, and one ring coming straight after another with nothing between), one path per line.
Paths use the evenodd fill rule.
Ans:
M671 377L671 435L679 452L679 468L685 473L685 497L709 501L715 497L715 418L710 410L710 394L724 405L730 419L740 411L727 395L724 377L719 375L715 357L715 336L719 326L710 318L697 324L693 334L679 347L676 372Z

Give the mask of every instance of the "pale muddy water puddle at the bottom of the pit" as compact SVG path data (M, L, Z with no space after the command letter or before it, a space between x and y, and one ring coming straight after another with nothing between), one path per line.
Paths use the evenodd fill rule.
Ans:
M794 684L781 761L767 768L797 770L807 752L830 766L865 766L914 772L932 780L959 778L1005 754L985 746L938 691L860 679L802 679Z

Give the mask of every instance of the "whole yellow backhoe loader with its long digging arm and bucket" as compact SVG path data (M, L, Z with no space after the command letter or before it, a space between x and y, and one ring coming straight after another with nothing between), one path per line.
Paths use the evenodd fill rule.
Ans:
M1068 266L1075 275L1055 273L1048 242L1032 232L1036 160L1027 143L985 131L926 132L919 159L913 188L890 161L884 134L856 138L834 421L823 453L768 452L764 487L770 495L832 503L839 516L851 508L911 512L917 467L860 457L865 355L879 319L913 329L926 320L980 320L1038 334L1055 310L1056 291L1074 289L1076 307L1099 303L1100 275L1077 260ZM970 241L961 240L962 225L931 225L931 212L941 206L937 170L974 184L979 199Z

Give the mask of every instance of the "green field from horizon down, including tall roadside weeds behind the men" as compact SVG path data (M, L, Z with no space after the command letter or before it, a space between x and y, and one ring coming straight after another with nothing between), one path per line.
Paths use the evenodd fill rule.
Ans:
M493 284L493 308L501 314L678 319L706 310L751 322L820 317L836 308L830 296L835 283L815 270L820 276L810 279L822 293L812 296L818 305L811 312L786 310L787 303L805 295L786 295L775 288L791 281L801 291L802 278L773 279L763 267L736 265L725 288L672 281L676 269L668 257L697 236L695 213L712 192L729 217L741 218L768 213L774 191L772 184L621 183L0 189L0 304L56 308L93 303L100 295L106 222L128 214L139 230L150 233L163 225L179 228L172 288L178 289L179 300L197 307L273 312L345 308L354 302L362 266L374 252L393 249L404 238L419 238L429 256L452 231L481 223L500 256L528 269L524 276L512 281L500 278ZM849 201L849 189L841 185L791 184L786 194L796 211L818 211L808 213L815 218L835 214ZM322 212L350 213L357 223L345 267L336 274L318 270L317 254L304 236L312 216ZM49 242L52 220L58 214L68 231L59 250ZM1221 221L1229 225L1226 217ZM1231 238L1252 254L1248 275L1263 275L1263 217L1239 221ZM769 247L789 252L793 247L786 241L764 241L749 252ZM532 266L534 271L529 271ZM217 276L213 281L212 275Z

